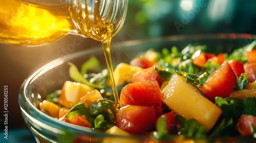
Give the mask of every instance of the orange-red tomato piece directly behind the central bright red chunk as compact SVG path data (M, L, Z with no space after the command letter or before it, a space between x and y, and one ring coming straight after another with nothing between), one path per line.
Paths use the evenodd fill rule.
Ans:
M158 69L160 69L160 67L158 67ZM161 77L159 76L158 71L155 70L155 66L151 66L141 71L138 71L132 77L132 83L143 82L148 80L155 80L158 82L159 86L161 86Z

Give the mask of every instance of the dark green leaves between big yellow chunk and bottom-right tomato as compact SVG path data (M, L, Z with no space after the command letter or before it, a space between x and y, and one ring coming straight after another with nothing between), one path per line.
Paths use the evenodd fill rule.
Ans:
M256 115L255 97L246 98L216 98L216 104L221 107L222 115L209 132L209 137L237 136L236 123L242 114Z

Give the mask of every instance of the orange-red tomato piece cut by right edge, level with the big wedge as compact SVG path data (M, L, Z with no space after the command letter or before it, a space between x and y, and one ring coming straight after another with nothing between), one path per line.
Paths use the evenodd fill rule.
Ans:
M256 62L245 63L244 71L248 75L247 79L249 83L252 83L256 80Z

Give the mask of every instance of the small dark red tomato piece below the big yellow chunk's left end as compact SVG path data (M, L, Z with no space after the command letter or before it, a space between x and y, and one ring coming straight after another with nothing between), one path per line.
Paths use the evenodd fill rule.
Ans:
M160 120L160 118L162 117L166 117L166 126L167 126L167 129L168 129L168 132L170 134L175 134L177 133L178 131L178 124L175 120L175 115L176 113L174 111L171 111L171 112L168 112L168 113L165 113L163 115L161 115L158 119L157 119L157 122Z

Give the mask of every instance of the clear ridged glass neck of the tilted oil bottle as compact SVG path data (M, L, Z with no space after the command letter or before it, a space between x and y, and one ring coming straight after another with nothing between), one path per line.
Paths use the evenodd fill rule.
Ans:
M77 32L102 41L121 30L128 0L68 0L68 5Z

